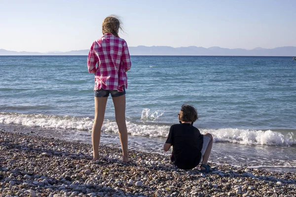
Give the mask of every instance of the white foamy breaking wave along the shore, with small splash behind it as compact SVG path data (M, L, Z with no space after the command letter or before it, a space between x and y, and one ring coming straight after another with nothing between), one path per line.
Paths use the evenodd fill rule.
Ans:
M142 121L151 120L153 117L159 117L161 113L149 113L148 109L142 112ZM152 116L153 115L153 116ZM42 127L48 129L72 129L91 131L93 119L77 118L71 116L43 115L43 114L18 114L0 112L1 124L17 124L27 127ZM131 135L147 137L165 138L170 130L169 125L130 122L127 121L127 129ZM116 122L106 120L103 123L102 131L118 132ZM201 133L212 133L214 142L229 142L242 145L275 145L275 146L292 146L296 144L296 136L293 130L290 131L263 131L263 130L243 130L243 129L200 129Z

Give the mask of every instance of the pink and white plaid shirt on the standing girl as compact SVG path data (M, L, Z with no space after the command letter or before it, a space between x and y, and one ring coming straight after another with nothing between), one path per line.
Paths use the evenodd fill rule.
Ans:
M123 87L127 88L126 71L131 68L125 40L106 33L94 41L89 50L87 67L89 73L95 73L94 90L103 88L123 92Z

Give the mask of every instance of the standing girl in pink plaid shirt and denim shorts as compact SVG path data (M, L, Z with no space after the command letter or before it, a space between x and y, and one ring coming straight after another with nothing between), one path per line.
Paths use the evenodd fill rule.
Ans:
M103 36L93 42L87 59L89 73L95 74L95 119L92 129L94 161L100 159L101 128L107 99L111 94L123 154L122 162L129 162L125 123L125 88L127 88L126 71L131 68L131 61L126 41L118 36L119 29L121 29L121 23L117 17L105 18L102 24Z

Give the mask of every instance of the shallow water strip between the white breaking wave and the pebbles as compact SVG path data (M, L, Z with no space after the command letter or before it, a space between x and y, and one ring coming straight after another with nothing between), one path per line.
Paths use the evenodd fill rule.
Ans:
M43 127L26 127L15 124L0 124L0 130L29 133L31 135L54 137L68 142L83 142L91 144L90 131L76 131L71 129L46 129ZM158 153L169 157L169 152L163 151L166 138L129 135L129 150ZM118 134L102 132L100 144L121 148ZM259 168L265 171L296 172L296 156L293 154L296 146L262 146L244 145L238 143L217 142L213 146L209 162L229 164L243 168Z

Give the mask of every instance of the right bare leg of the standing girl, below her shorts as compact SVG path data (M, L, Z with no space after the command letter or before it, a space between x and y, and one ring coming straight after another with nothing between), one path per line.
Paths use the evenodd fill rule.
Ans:
M125 95L112 97L115 109L115 119L119 130L119 139L123 154L122 162L129 162L127 153L127 128L125 123Z

